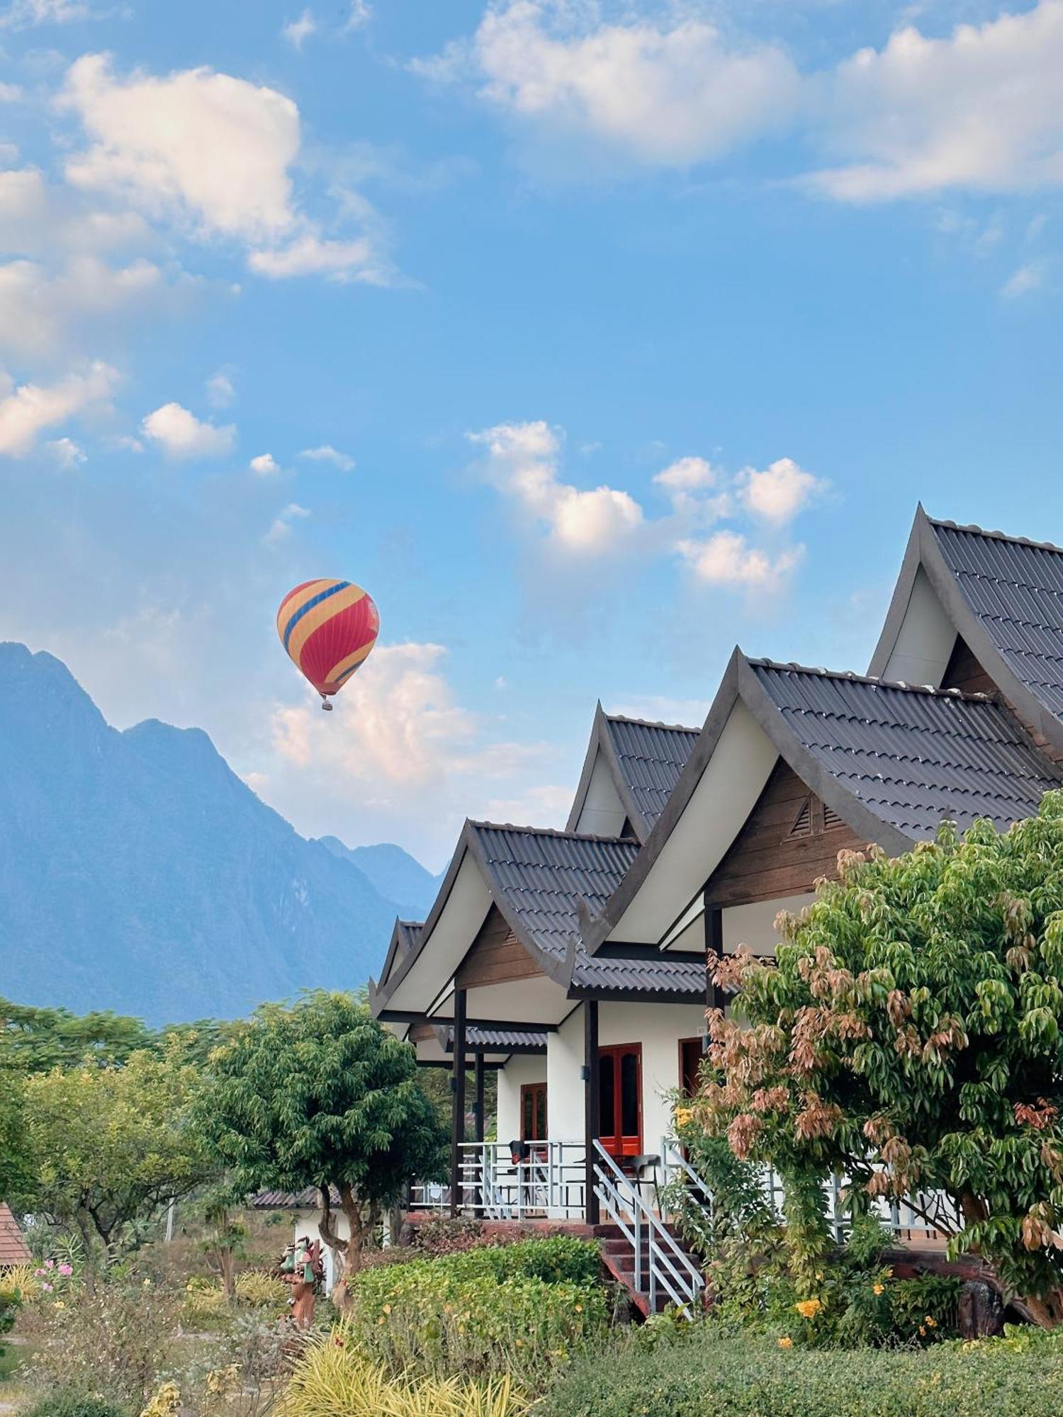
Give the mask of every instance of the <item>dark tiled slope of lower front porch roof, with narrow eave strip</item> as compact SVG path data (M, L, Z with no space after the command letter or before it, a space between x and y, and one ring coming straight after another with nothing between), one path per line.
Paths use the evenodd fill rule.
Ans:
M581 904L595 915L638 854L638 843L536 828L471 822L495 898L517 935L558 964L580 932ZM704 964L666 955L591 958L575 947L575 989L704 993Z

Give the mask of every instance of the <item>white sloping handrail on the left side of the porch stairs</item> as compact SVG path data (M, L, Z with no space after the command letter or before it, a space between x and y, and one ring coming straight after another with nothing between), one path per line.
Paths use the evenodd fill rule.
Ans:
M660 1217L646 1204L638 1183L625 1176L600 1141L594 1149L594 1193L598 1204L619 1229L634 1257L634 1287L645 1294L655 1314L663 1294L687 1318L704 1288L704 1275Z

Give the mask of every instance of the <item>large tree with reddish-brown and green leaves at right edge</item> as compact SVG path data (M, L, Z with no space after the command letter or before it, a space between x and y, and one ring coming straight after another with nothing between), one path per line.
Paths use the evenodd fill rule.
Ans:
M1005 833L843 852L816 897L777 921L775 964L720 962L738 992L710 1019L696 1119L798 1182L798 1226L819 1224L809 1178L848 1176L856 1206L907 1197L1059 1325L1063 794Z

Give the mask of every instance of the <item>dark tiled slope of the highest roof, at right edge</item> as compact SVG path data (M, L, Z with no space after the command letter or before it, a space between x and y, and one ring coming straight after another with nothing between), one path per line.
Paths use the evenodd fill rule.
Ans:
M957 587L1011 672L1063 718L1063 550L928 520Z

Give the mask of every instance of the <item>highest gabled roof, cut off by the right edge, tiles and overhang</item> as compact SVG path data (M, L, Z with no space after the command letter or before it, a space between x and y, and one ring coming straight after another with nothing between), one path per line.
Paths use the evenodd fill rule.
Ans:
M918 507L872 673L887 670L903 640L920 574L1003 697L1063 751L1063 550Z

